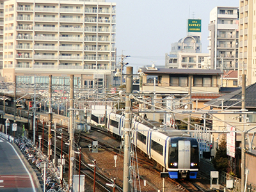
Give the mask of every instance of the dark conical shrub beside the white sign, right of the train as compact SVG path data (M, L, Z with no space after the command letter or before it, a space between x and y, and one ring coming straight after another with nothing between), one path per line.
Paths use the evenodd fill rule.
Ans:
M212 159L214 168L219 172L227 172L228 156L227 156L227 141L226 137L221 138L219 148L216 148L216 156Z

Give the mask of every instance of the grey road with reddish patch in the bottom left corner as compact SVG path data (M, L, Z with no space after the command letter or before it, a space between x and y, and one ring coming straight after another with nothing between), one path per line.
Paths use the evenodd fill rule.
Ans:
M0 138L0 191L36 192L31 174L12 144Z

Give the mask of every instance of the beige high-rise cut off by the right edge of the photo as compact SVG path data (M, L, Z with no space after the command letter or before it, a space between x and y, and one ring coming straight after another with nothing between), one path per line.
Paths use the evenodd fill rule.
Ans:
M256 82L256 2L239 1L239 85L246 74L246 85Z

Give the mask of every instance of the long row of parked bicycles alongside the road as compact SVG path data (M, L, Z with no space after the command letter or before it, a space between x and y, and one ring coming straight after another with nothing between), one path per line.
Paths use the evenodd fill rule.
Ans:
M28 138L21 137L15 140L15 143L20 148L31 166L35 166L41 173L41 179L44 183L43 191L47 192L66 192L68 186L61 183L60 172L54 164L49 161L49 158L36 148Z

